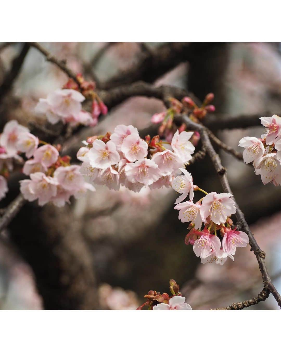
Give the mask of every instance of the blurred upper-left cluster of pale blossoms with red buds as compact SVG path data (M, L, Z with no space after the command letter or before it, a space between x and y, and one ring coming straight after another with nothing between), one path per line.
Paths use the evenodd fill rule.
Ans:
M79 84L70 79L62 89L49 93L46 99L39 99L35 112L46 116L51 124L62 121L71 126L82 124L94 127L99 115L107 114L107 107L95 92L94 82L86 81L81 74L77 74L76 78ZM85 99L92 100L91 113L82 109Z

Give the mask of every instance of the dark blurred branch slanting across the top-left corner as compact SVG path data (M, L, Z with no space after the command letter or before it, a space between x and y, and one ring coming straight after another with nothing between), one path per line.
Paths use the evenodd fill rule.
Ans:
M11 90L14 80L18 77L18 74L20 73L20 69L22 67L22 64L24 63L24 59L28 53L29 48L29 44L25 43L19 55L14 58L12 67L10 71L6 73L4 80L0 86L0 101Z

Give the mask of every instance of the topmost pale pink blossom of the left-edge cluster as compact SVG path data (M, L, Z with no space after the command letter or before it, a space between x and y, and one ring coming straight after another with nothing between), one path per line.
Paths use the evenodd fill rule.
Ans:
M21 133L29 133L29 130L21 126L18 121L11 120L5 124L0 136L0 145L5 147L7 153L17 153L17 143Z

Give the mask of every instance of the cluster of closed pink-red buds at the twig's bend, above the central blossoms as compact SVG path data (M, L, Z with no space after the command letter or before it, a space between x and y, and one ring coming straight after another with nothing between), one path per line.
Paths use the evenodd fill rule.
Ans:
M173 134L175 133L177 127L174 124L174 117L177 114L184 113L188 114L191 119L198 122L202 120L207 113L214 112L215 106L210 105L213 101L214 94L209 93L206 95L201 107L198 107L195 102L188 96L185 96L181 101L170 98L170 108L161 113L155 113L151 117L151 122L154 124L159 124L158 133L161 137L165 137L167 141L171 141ZM186 125L183 123L179 128L179 132L186 130ZM192 143L196 146L200 139L200 134L198 132L194 133L194 140Z

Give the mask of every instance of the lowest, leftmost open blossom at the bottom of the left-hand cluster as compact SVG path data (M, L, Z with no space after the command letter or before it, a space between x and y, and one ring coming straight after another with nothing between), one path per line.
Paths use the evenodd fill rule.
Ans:
M42 172L30 174L31 179L20 180L20 191L28 201L38 199L39 206L44 206L57 194L57 181Z

